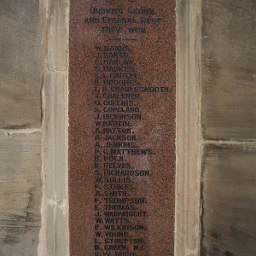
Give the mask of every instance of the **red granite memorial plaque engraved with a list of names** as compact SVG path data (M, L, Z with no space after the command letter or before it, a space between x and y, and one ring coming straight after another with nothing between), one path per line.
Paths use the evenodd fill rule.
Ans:
M175 1L70 4L70 254L171 256Z

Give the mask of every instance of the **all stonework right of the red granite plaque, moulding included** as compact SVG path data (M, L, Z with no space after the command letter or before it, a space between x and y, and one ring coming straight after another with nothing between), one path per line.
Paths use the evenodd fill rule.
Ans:
M256 253L255 13L177 1L175 255Z

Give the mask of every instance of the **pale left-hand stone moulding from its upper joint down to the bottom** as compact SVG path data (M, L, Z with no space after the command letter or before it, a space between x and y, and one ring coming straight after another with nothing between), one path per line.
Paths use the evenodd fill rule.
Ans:
M67 255L67 75L49 72L46 86L47 252Z

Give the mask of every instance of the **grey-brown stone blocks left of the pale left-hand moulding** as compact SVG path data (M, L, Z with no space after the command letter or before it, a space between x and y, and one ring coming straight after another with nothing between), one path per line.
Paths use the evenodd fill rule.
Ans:
M0 3L0 254L37 255L43 51L38 0Z

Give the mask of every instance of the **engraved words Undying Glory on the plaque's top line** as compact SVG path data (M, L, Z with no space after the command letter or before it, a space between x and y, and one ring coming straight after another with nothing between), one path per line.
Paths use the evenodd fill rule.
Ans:
M90 8L90 14L92 15L123 15L124 9L114 8ZM132 8L127 9L128 15L154 15L154 9L152 8Z

